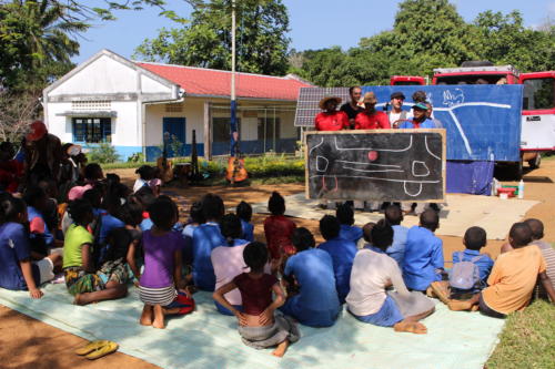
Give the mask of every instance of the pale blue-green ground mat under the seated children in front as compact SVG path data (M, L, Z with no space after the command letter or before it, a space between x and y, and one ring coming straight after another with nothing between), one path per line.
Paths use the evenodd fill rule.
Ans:
M41 300L0 289L0 304L85 339L109 339L120 351L171 368L483 368L504 320L453 312L443 304L423 320L427 335L397 334L359 322L343 310L334 327L301 327L301 340L283 359L241 342L236 320L215 311L211 295L198 293L196 310L172 318L165 330L142 327L138 289L127 298L84 307L71 305L64 285L47 285Z

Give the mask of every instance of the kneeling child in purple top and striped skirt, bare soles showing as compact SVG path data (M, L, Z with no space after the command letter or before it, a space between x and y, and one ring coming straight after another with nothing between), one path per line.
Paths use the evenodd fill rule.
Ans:
M142 235L144 270L139 281L139 298L144 303L140 324L165 328L165 315L185 315L194 300L184 288L181 270L183 237L173 232L175 208L159 198L149 207L153 226Z

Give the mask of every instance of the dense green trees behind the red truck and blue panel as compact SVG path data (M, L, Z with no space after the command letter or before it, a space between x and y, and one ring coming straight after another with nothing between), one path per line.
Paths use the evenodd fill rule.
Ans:
M292 51L290 72L321 86L389 84L391 75L432 75L467 60L513 64L523 72L555 69L555 27L527 29L518 11L485 11L466 23L447 0L405 0L393 29L357 48Z

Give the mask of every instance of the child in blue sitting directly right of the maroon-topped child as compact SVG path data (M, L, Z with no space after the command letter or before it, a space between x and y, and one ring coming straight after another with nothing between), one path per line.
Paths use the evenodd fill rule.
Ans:
M297 294L290 294L280 310L310 327L333 326L341 310L333 276L333 262L326 252L314 248L311 232L293 230L291 240L297 253L285 264L283 279L297 284Z

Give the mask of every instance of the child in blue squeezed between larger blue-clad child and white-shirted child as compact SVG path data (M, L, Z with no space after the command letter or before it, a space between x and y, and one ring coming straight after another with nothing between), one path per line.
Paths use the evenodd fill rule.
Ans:
M320 244L319 248L332 257L337 297L340 303L344 304L350 289L351 268L356 254L356 244L341 238L340 227L340 221L336 217L324 215L320 221L320 233L325 243Z

